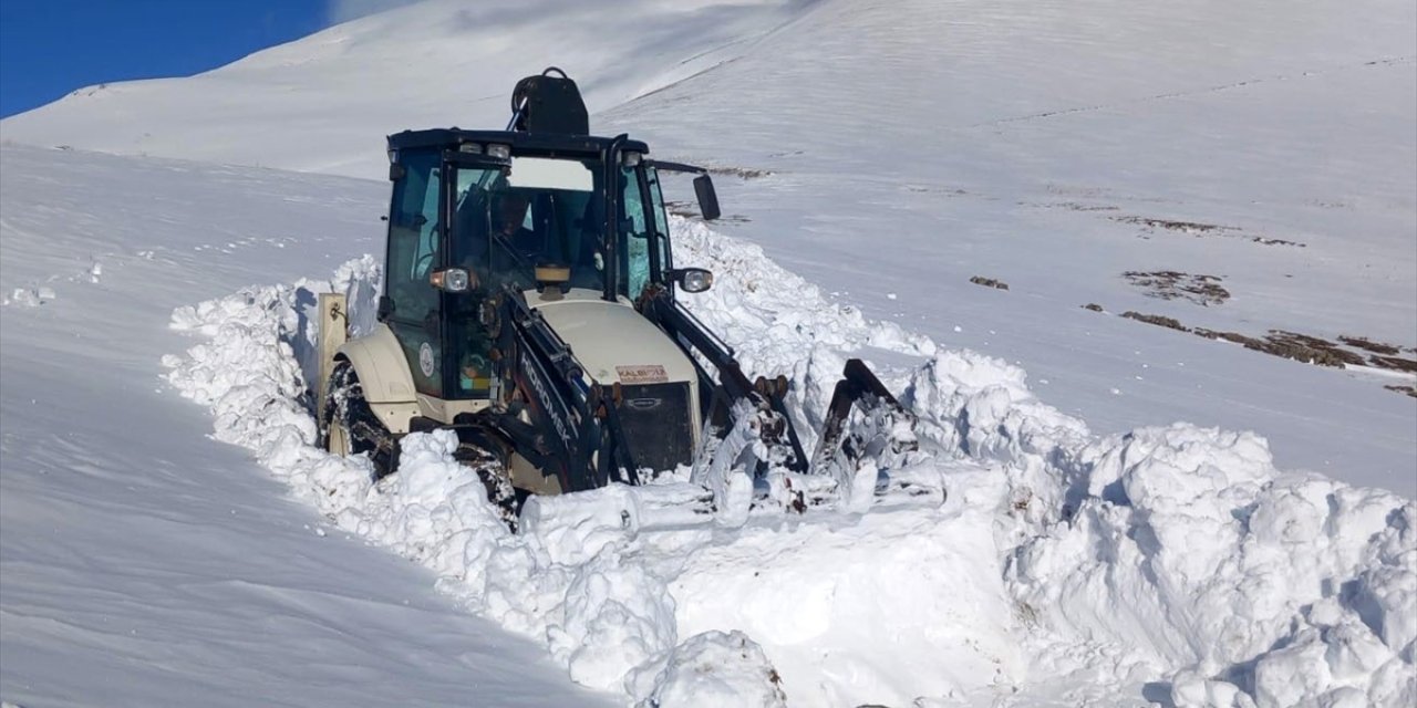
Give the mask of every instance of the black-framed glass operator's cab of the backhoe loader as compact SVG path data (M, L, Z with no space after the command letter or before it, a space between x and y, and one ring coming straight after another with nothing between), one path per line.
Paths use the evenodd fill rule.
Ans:
M670 295L676 286L707 287L707 272L673 268L659 169L646 153L625 136L458 129L390 136L378 314L418 394L499 395L490 304L509 292L633 303L652 286Z

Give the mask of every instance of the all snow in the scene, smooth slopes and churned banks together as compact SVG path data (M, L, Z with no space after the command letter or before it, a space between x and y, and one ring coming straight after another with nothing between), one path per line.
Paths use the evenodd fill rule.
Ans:
M1410 702L1417 377L1373 357L1417 346L1414 58L1387 0L428 0L6 119L0 698ZM716 169L696 312L808 404L874 361L942 506L512 537L436 436L381 489L312 447L381 136L500 127L548 64Z

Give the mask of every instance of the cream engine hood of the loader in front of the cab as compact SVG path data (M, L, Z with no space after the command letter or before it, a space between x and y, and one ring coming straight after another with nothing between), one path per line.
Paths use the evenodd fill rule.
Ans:
M558 299L527 290L526 299L601 385L696 379L689 357L626 302L612 303L582 289Z

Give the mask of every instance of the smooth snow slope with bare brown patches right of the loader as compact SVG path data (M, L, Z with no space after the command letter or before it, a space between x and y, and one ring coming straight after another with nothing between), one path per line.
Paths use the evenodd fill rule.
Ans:
M1253 429L1285 466L1417 494L1417 405L1382 388L1404 379L1117 317L1369 336L1413 358L1411 3L818 3L598 119L769 173L718 180L745 219L730 234L867 316L1019 362L1097 429ZM1122 278L1156 270L1230 297Z

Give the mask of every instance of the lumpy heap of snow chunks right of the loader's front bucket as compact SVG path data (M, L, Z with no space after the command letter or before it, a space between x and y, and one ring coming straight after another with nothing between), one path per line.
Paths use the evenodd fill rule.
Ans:
M1058 668L1084 643L1161 670L1178 705L1417 700L1417 504L1281 473L1253 433L1090 439L1022 371L968 353L937 357L910 395L938 440L1003 463L1005 578Z

